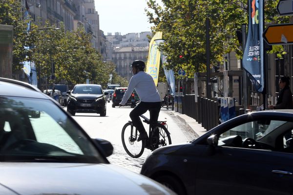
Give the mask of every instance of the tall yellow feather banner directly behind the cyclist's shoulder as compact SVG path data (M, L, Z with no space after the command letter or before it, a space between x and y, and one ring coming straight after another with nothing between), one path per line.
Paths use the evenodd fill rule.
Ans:
M162 39L162 32L156 32L149 43L148 58L146 61L146 73L154 79L155 85L158 85L159 68L160 68L160 51L155 39Z

